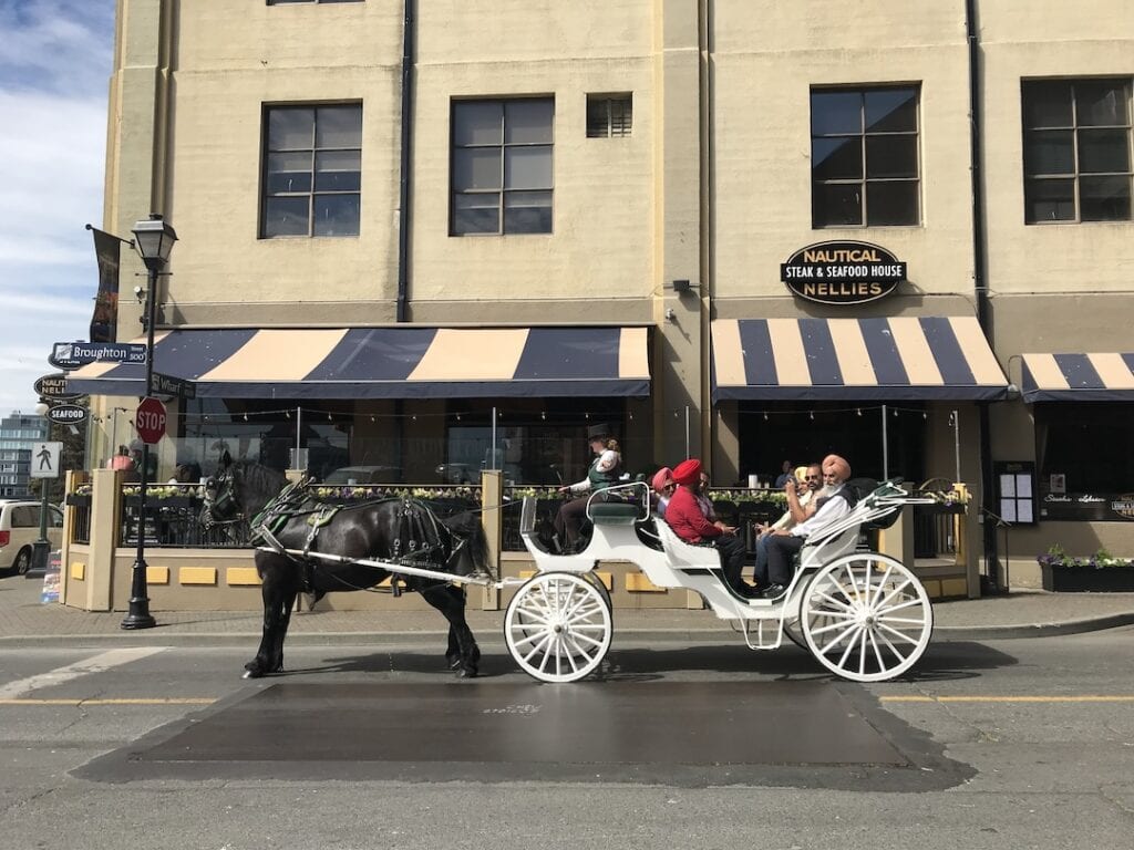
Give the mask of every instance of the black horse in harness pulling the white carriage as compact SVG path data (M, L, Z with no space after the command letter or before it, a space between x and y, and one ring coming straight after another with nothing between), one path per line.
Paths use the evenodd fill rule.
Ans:
M463 511L441 517L424 502L382 499L339 505L307 495L298 485L260 464L226 457L205 484L202 522L248 522L256 572L263 584L264 628L245 678L284 670L284 639L301 592L320 598L335 590L363 590L390 570L353 561L380 560L467 576L488 570L488 543L479 518ZM342 562L287 554L318 552ZM397 572L396 570L393 572ZM462 677L474 677L481 656L465 621L465 593L446 580L397 573L449 621L446 660Z

